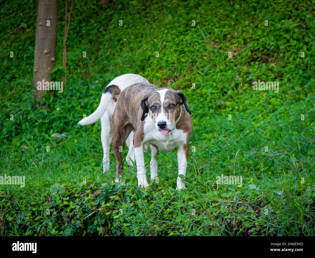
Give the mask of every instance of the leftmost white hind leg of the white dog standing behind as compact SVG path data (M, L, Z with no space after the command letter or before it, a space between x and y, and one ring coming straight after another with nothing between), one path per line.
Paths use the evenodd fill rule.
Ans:
M102 126L100 139L103 146L103 173L105 173L109 170L109 148L113 137L113 126L112 121L108 119L107 112L101 116L100 122Z

